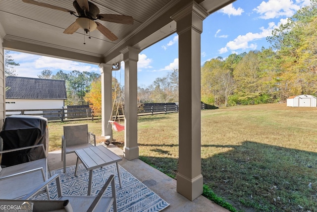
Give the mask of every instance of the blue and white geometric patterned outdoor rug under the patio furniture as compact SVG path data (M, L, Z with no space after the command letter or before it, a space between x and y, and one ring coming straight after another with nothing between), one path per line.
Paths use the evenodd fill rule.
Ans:
M156 193L150 190L142 182L119 165L122 188L119 186L116 165L111 164L93 171L93 184L91 195L96 196L99 190L106 183L108 177L114 174L115 192L117 198L118 212L159 212L169 206ZM89 171L82 164L79 164L77 176L75 176L75 166L66 168L66 173L62 169L52 171L59 174L62 193L67 196L87 195ZM57 197L55 182L49 186L51 198ZM111 188L108 188L105 196L110 196ZM45 197L45 196L44 196ZM42 199L38 196L36 199ZM111 208L112 211L112 208Z

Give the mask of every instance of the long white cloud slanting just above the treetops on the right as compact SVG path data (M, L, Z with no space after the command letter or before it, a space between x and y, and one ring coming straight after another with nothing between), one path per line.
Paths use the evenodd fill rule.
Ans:
M281 19L281 21L284 21L284 19ZM255 50L257 48L256 43L252 43L255 40L259 40L262 38L266 38L267 36L270 36L272 34L272 30L277 27L274 22L268 23L268 27L264 28L261 27L261 32L253 33L249 32L245 35L239 35L236 37L233 41L229 41L225 47L218 50L219 54L223 54L230 51L235 51L238 49L252 49Z

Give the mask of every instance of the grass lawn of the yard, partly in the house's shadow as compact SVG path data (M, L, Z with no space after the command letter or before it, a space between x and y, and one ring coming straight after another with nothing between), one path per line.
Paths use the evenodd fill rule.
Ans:
M50 151L62 126L50 123ZM86 121L101 135L100 121ZM123 132L115 132L117 141ZM140 159L177 174L178 114L138 118ZM204 183L237 211L317 212L317 108L286 104L202 111Z

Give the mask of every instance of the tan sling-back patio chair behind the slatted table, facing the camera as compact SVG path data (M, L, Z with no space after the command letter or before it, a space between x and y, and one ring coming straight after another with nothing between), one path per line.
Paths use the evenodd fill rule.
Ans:
M76 149L93 146L93 137L96 146L96 136L88 132L88 125L64 126L64 135L61 137L61 160L63 160L63 171L66 172L66 154L74 153Z

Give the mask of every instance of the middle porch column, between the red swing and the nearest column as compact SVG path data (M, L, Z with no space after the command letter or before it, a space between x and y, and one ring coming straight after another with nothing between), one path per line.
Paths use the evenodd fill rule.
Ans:
M138 147L138 67L139 49L126 47L120 51L124 61L124 157L132 160L139 157Z

